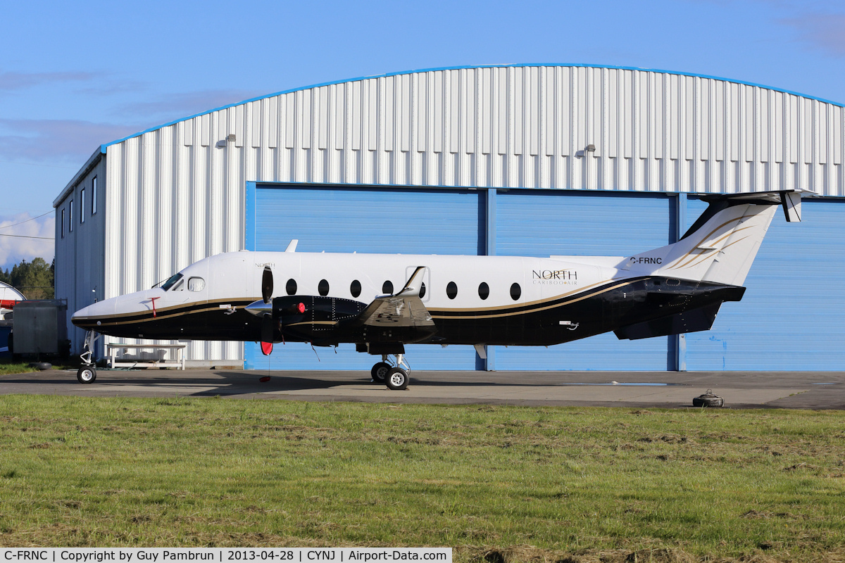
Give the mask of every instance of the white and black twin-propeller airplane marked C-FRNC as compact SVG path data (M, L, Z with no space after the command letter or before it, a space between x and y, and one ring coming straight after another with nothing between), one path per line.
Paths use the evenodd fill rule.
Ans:
M649 338L709 330L745 276L777 206L800 220L800 191L707 196L668 246L631 257L226 252L161 287L74 313L90 331L79 382L95 380L95 333L123 338L356 344L380 355L373 381L408 384L405 344L548 346L613 331ZM281 286L281 291L280 291ZM392 357L392 358L391 358ZM405 366L403 368L403 365Z

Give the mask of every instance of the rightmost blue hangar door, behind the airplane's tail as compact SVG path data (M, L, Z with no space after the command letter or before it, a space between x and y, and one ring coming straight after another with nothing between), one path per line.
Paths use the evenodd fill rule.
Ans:
M690 198L687 225L706 208ZM686 336L690 371L841 371L845 365L845 201L804 199L800 223L778 211L739 303Z

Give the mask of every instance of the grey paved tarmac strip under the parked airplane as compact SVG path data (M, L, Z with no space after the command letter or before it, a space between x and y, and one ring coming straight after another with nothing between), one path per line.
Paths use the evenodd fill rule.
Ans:
M260 378L270 376L269 382ZM692 408L712 389L733 409L845 409L837 371L412 371L405 391L364 371L99 370L90 385L75 371L0 376L0 395L214 397L369 403L521 404Z

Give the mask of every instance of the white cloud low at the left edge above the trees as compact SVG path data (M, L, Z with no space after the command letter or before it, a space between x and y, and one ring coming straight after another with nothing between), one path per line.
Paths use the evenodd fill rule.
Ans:
M32 219L32 215L20 213L0 217L0 235L18 235L0 236L0 268L11 269L14 264L21 260L30 262L36 257L44 258L46 263L52 262L55 251L54 241L44 238L19 237L41 236L52 239L55 235L55 215L51 213L40 219L27 219ZM20 225L14 225L16 223L20 223Z

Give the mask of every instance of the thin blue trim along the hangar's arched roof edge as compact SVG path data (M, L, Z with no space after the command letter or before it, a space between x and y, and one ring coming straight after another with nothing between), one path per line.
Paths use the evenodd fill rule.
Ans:
M603 65L603 64L585 64L585 63L574 63L574 64L564 64L560 62L552 62L552 63L543 63L543 62L531 62L531 63L521 63L521 64L477 64L477 65L465 65L465 66L458 66L458 67L438 67L438 68L419 68L417 70L405 70L398 73L384 73L384 74L373 74L373 76L359 76L357 78L346 78L345 80L333 80L331 82L323 82L320 84L311 84L310 86L303 86L301 88L293 88L282 90L281 92L275 92L274 94L262 95L257 98L250 98L249 100L239 101L234 104L228 104L226 106L215 107L213 110L202 111L200 113L195 113L193 116L182 117L181 119L177 119L172 122L167 122L162 125L158 125L155 127L150 127L149 129L144 129L139 133L134 133L133 135L129 135L128 137L119 138L117 141L112 141L111 143L105 143L100 145L100 152L102 154L106 154L106 149L112 144L123 143L123 141L139 137L144 133L150 133L161 129L162 127L169 127L171 125L175 125L178 122L184 122L188 119L194 119L194 117L204 116L209 113L213 113L215 111L226 110L230 107L234 106L241 106L243 104L248 104L252 101L264 100L266 98L272 98L277 95L283 94L291 94L292 92L298 92L300 90L307 90L312 88L320 88L322 86L331 86L334 84L344 84L346 82L358 82L360 80L368 80L370 78L387 78L390 76L399 76L400 74L413 74L413 73L432 73L440 70L461 70L464 68L521 68L521 67L576 67L576 68L613 68L615 70L639 70L646 73L663 73L663 74L675 74L678 76L693 76L697 78L711 78L713 80L723 80L725 82L731 82L733 84L745 84L746 86L756 86L758 88L765 88L774 90L776 92L782 92L783 94L790 94L790 95L797 95L802 98L807 98L809 100L817 100L820 102L824 102L826 104L832 104L833 106L845 107L845 104L833 100L825 100L824 98L818 98L811 95L801 94L800 92L793 92L792 90L782 89L782 88L775 88L773 86L766 86L766 84L756 84L754 82L745 82L744 80L733 80L732 78L723 78L721 76L711 76L710 74L697 74L697 73L681 73L675 70L662 70L659 68L637 68L637 67L618 67L613 65Z

